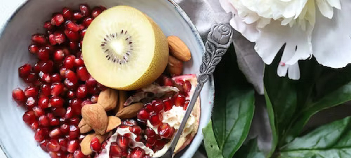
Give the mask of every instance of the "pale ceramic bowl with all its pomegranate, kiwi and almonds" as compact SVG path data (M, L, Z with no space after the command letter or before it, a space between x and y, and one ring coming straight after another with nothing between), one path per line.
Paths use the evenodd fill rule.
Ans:
M188 17L164 0L40 2L26 2L0 38L5 154L161 156L204 52ZM31 12L39 8L40 15ZM23 25L23 15L38 18ZM191 157L201 143L198 129L210 119L213 93L210 81L176 147L190 144L179 156Z

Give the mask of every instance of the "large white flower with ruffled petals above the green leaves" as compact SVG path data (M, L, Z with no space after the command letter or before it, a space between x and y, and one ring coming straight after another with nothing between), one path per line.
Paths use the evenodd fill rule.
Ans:
M332 68L351 63L350 0L342 1L342 10L340 0L219 1L226 12L233 14L231 26L256 42L255 51L266 64L271 64L286 44L277 70L279 76L288 74L291 79L299 79L298 60L312 55L320 64Z

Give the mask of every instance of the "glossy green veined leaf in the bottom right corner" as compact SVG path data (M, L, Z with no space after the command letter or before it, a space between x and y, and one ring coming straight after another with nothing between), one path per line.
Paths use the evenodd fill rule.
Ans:
M346 117L295 138L281 149L279 158L351 157L350 140L351 118Z

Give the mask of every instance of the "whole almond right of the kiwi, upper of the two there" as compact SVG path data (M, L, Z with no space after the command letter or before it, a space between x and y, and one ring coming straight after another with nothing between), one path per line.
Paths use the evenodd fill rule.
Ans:
M186 44L177 36L167 37L170 53L181 61L189 61L191 54Z

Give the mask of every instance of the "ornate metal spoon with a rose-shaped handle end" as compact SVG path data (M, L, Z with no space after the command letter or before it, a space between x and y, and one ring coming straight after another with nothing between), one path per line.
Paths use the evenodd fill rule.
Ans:
M207 41L205 43L206 50L202 58L200 74L198 75L198 84L195 88L195 92L190 100L179 129L176 135L173 137L170 147L163 156L160 156L158 158L173 157L174 149L176 148L179 137L184 130L186 121L188 120L190 113L193 110L194 104L201 92L201 89L203 88L206 81L210 78L211 74L214 72L216 65L220 62L222 56L225 54L231 43L231 26L227 24L216 24L211 27L211 30L207 35Z

